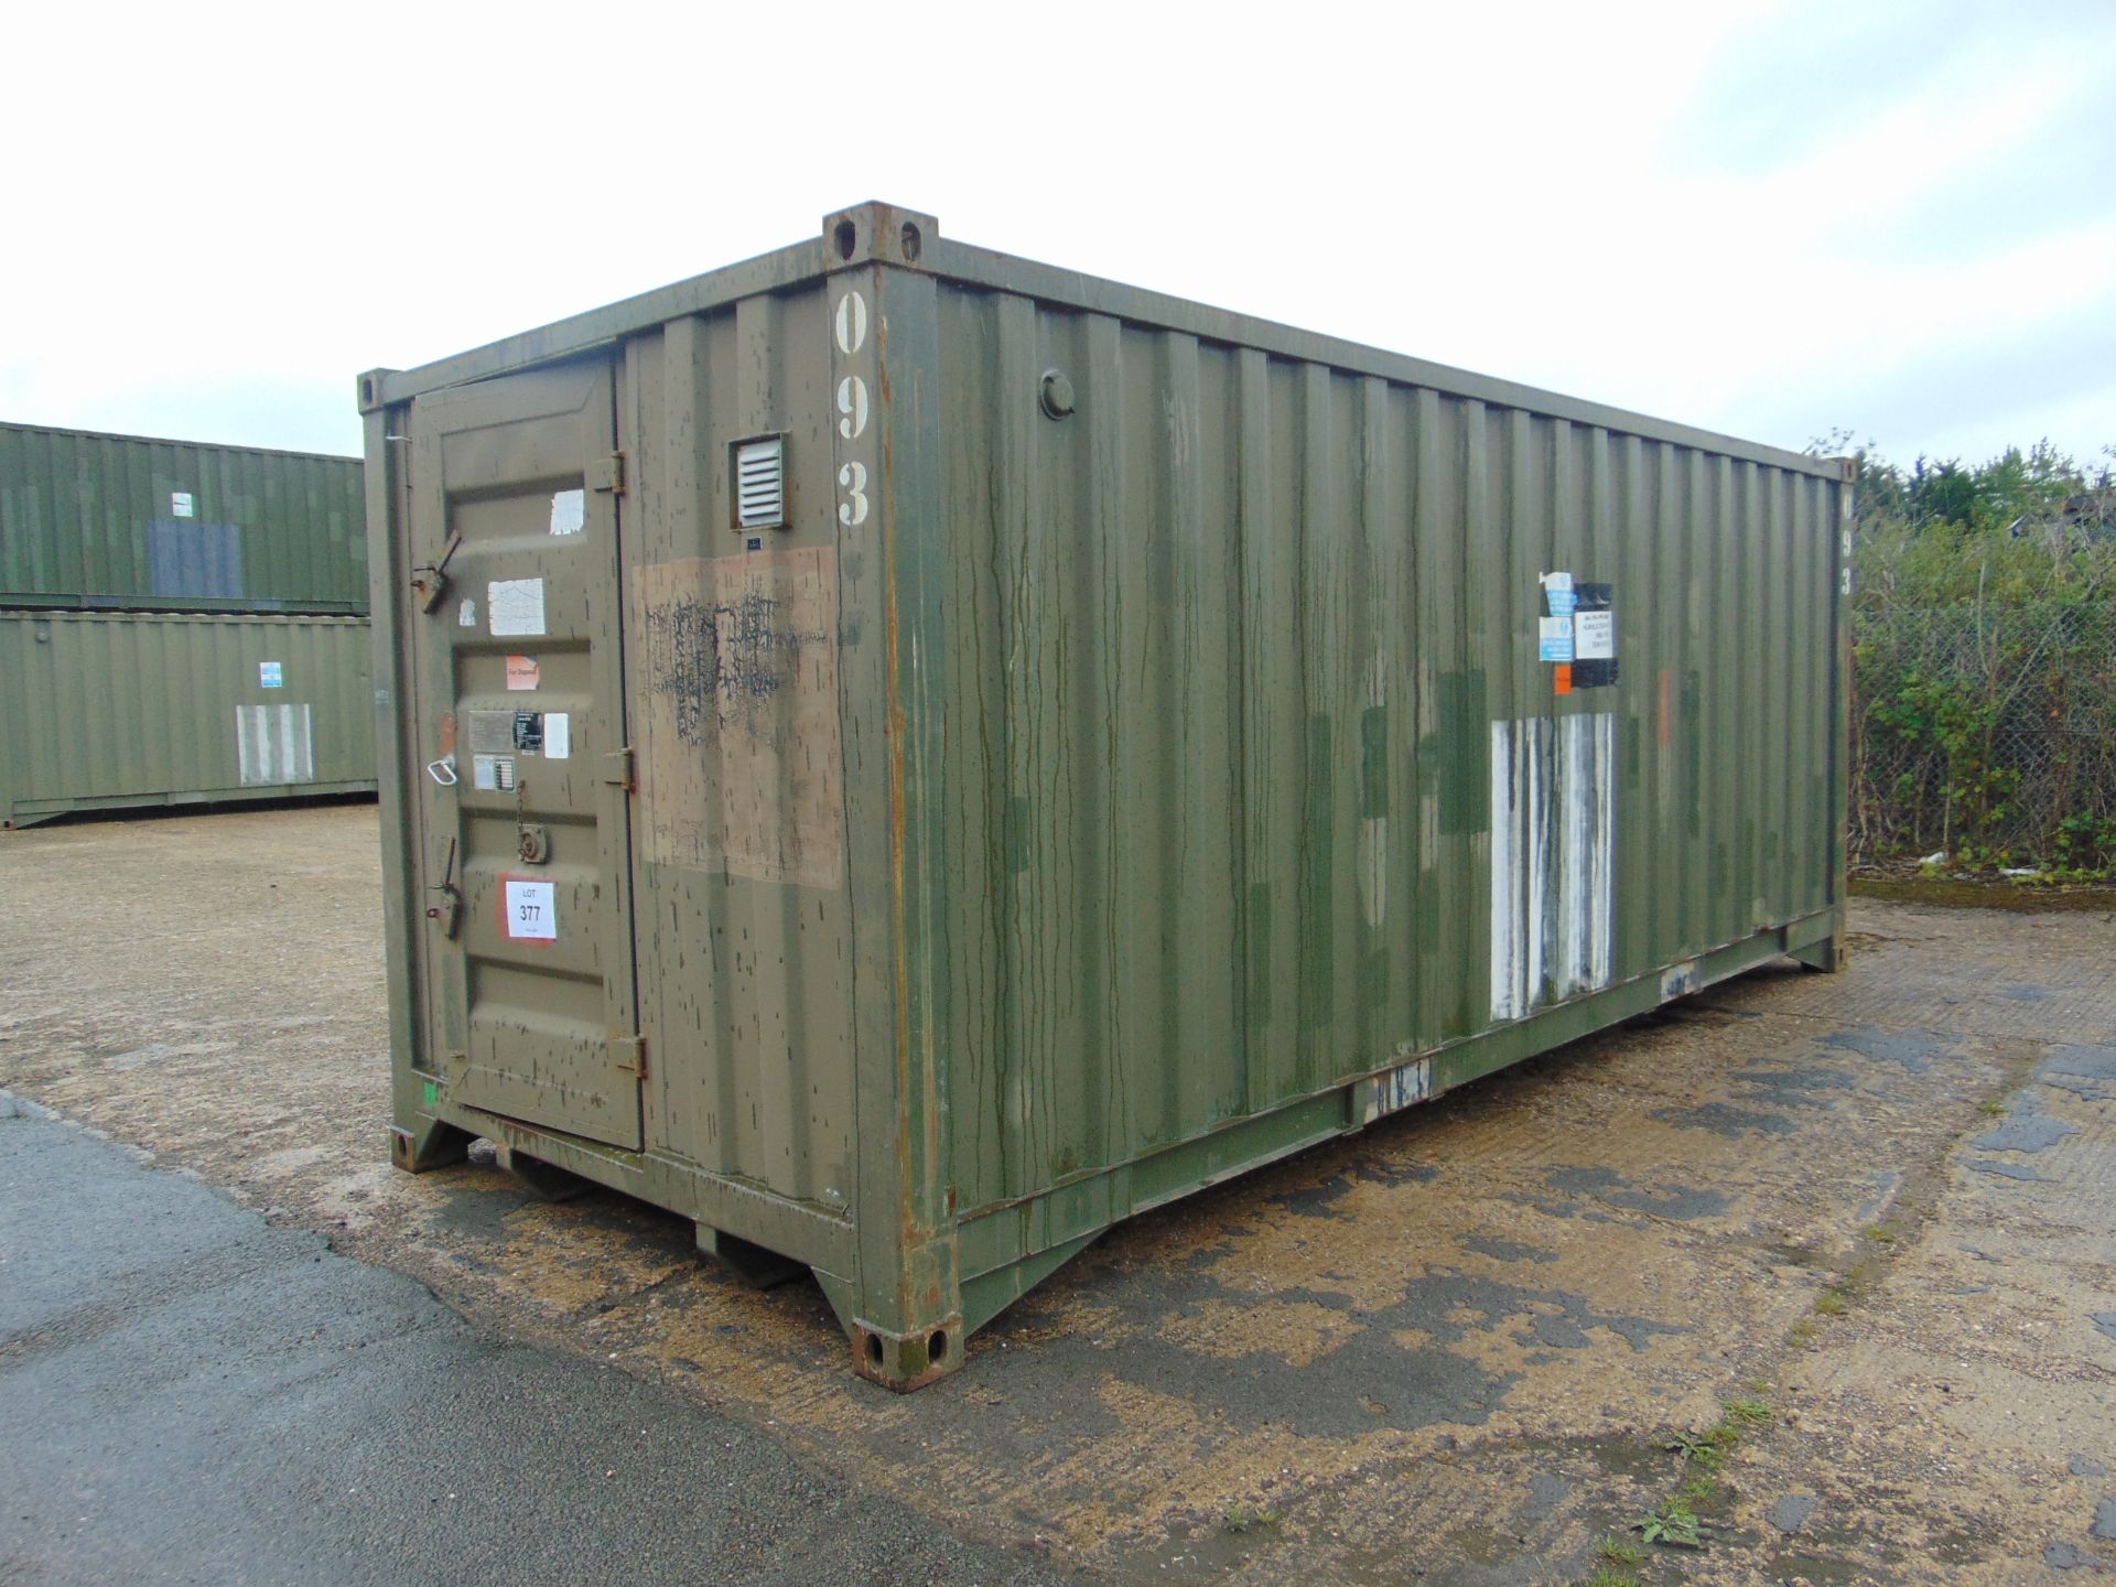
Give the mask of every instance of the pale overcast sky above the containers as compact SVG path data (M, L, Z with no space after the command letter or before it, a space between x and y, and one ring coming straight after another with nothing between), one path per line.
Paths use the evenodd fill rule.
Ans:
M2116 0L32 6L8 55L0 419L351 453L362 368L878 197L1782 446L2116 442Z

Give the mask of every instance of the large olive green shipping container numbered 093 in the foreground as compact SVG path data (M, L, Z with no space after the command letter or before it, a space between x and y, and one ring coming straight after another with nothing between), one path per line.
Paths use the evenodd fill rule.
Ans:
M1839 461L887 205L360 404L398 1164L806 1265L891 1386L1143 1208L1839 961Z

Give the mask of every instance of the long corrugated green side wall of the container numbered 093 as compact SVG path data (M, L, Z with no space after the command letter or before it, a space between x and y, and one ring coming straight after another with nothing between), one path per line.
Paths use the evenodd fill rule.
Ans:
M1832 910L1839 480L1009 292L940 339L961 1212ZM1551 571L1617 683L1555 694Z

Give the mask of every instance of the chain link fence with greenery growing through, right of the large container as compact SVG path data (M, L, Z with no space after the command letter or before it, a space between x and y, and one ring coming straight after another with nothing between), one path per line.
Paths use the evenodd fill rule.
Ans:
M1854 863L2116 868L2116 601L1959 561L1854 607Z

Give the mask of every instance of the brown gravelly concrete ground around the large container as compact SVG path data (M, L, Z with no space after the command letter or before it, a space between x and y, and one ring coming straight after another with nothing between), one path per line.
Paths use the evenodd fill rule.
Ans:
M1119 1227L912 1397L679 1219L391 1170L372 806L4 834L0 918L0 1086L1096 1579L2116 1570L2108 914L1858 899L1847 973ZM1672 1507L1703 1547L1642 1545Z

